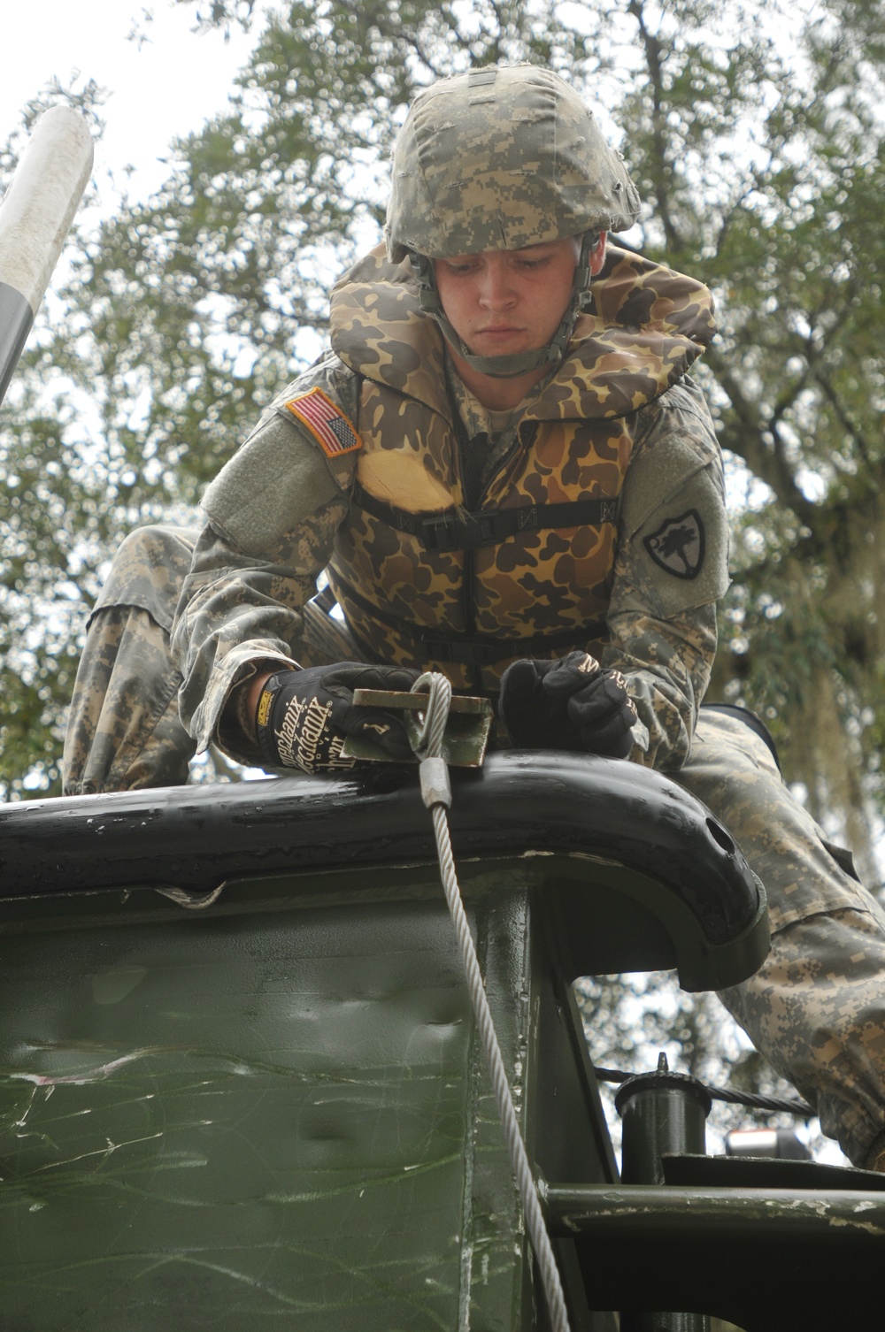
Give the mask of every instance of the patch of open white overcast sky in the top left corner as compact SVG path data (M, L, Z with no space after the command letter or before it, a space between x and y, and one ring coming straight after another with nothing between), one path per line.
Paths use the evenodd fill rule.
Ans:
M0 141L53 77L95 79L109 95L95 168L101 193L108 172L123 188L128 164L136 166L131 194L156 189L171 139L224 107L255 39L237 29L225 44L220 32L193 33L193 7L172 0L5 0ZM133 29L147 40L128 40Z

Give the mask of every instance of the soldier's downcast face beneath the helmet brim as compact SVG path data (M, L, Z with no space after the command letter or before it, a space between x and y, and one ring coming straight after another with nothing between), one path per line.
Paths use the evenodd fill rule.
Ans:
M545 346L572 298L580 241L568 236L521 250L433 261L446 318L474 356Z

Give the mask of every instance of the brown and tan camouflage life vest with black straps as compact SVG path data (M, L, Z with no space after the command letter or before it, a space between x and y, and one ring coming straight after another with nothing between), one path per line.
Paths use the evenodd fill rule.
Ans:
M492 691L517 657L598 649L642 408L713 330L706 288L609 246L569 354L468 509L442 338L411 266L379 249L351 269L332 346L361 378L363 448L329 579L368 655Z

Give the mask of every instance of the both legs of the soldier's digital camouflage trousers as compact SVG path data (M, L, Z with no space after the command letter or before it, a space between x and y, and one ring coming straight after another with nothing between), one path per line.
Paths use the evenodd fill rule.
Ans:
M64 750L67 794L184 782L195 742L179 721L169 630L196 533L133 533L93 611ZM305 613L303 665L359 658L343 625ZM885 916L742 722L701 711L670 774L730 830L766 887L772 951L720 998L757 1050L817 1110L856 1164L885 1147Z

